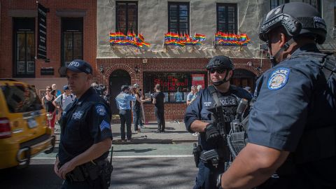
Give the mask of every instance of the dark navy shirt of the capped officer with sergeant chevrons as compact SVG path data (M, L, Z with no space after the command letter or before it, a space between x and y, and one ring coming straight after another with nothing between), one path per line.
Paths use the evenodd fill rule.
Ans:
M59 161L61 165L83 153L93 144L112 139L111 112L102 97L90 87L80 99L66 109L62 117ZM109 151L99 160L107 158Z

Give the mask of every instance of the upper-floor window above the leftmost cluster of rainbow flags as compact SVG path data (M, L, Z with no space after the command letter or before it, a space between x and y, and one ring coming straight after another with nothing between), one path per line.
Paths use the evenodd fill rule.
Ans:
M116 1L116 31L138 33L137 1Z

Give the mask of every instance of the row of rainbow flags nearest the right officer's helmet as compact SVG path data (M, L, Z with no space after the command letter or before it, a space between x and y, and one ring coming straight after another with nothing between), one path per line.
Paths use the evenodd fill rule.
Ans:
M250 38L246 34L228 34L217 31L215 34L216 45L244 46L250 43Z

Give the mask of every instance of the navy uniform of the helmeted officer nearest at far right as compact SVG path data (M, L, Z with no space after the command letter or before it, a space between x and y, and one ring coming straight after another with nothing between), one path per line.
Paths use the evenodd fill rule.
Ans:
M295 50L257 81L256 102L248 126L252 144L295 152L309 145L300 141L305 132L316 133L318 128L336 125L335 107L325 95L327 87L321 66L313 57L297 57L302 52L318 50L314 44ZM318 143L318 139L313 142ZM311 151L305 158L316 153L321 152ZM285 175L279 172L279 179L270 179L274 186L269 188L336 188L335 160L331 157L297 164L295 172Z

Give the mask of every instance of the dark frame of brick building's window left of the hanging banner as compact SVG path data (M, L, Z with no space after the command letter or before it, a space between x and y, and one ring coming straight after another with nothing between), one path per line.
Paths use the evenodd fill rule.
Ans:
M34 73L28 73L28 61L27 61L27 34L33 34L33 43L34 43L34 57L36 56L36 32L35 32L35 18L13 18L13 78L35 78L36 74L36 60L29 62L34 62ZM17 73L18 67L18 32L25 34L25 73Z

